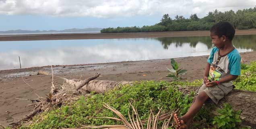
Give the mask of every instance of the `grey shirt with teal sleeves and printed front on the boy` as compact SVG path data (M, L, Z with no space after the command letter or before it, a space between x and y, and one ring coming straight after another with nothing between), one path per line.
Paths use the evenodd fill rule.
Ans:
M216 46L211 51L207 60L211 64L209 77L211 81L219 81L227 75L240 75L241 74L241 56L237 49L233 49L225 55L219 54L219 48ZM226 87L232 86L232 81L222 83Z

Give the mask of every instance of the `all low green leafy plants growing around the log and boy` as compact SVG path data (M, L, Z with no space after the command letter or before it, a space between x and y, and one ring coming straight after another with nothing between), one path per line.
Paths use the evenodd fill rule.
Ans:
M242 75L234 81L236 89L256 91L256 62L250 65L242 64ZM194 91L184 94L179 91L177 85L199 86L201 80L194 82L188 81L141 81L135 82L133 86L125 85L120 89L114 89L104 94L91 93L88 96L81 96L73 103L44 112L37 115L28 125L19 127L20 129L49 129L49 128L75 128L82 125L122 125L121 121L95 117L116 117L118 116L103 107L104 103L120 111L126 119L129 119L128 111L130 102L134 102L140 119L147 119L153 113L157 114L159 109L163 113L168 113L179 109L178 114L183 115L187 112L194 97ZM240 111L233 111L228 104L219 110L219 116L210 117L211 109L203 108L194 118L193 128L200 129L240 129L236 123L241 121ZM158 122L159 127L163 121ZM146 126L146 125L145 125ZM247 128L243 128L247 129Z

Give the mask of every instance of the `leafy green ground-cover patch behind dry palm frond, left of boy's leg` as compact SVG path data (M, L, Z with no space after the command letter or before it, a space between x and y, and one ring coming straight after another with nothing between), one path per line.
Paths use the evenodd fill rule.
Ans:
M176 84L176 83L175 83ZM180 108L180 115L186 113L192 103L194 93L184 95L178 91L173 83L165 81L135 82L134 86L123 86L122 89L114 89L105 94L95 94L81 98L71 105L62 106L60 109L45 112L33 119L35 122L21 129L48 129L80 127L84 125L114 125L122 124L111 119L88 118L90 117L117 117L115 113L103 107L103 103L114 107L128 119L129 101L135 101L140 119L149 117L150 109L156 114L163 106L162 111L168 112ZM159 108L159 109L158 109ZM199 113L197 119L205 117ZM78 122L78 123L77 123ZM159 122L159 124L162 124Z

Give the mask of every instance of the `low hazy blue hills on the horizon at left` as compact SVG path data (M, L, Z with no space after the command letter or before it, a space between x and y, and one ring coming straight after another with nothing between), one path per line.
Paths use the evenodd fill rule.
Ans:
M102 28L72 28L66 30L7 30L0 31L0 34L23 34L23 33L58 33L58 32L100 32Z

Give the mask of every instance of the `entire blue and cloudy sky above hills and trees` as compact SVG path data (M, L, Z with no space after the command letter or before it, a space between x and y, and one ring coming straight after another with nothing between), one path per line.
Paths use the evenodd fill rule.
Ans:
M143 26L163 14L202 18L255 6L256 0L0 0L0 31Z

